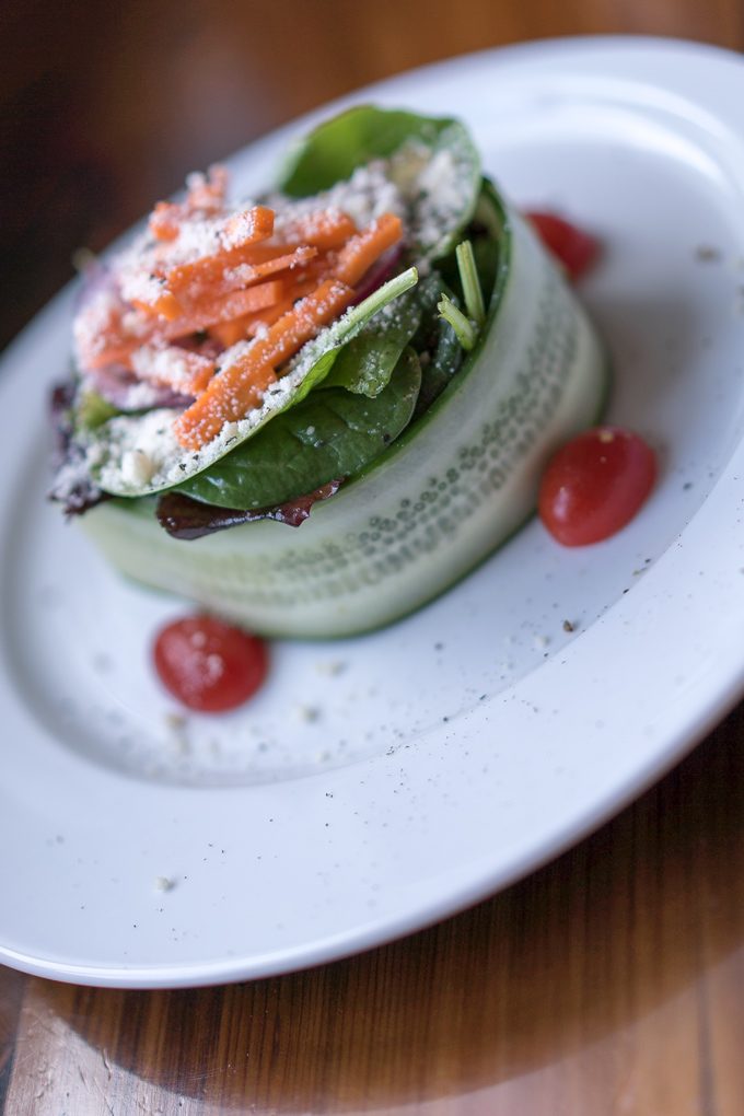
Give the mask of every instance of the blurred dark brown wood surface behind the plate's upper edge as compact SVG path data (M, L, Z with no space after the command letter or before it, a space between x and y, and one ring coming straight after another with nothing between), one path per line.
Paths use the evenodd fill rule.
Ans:
M182 0L6 4L0 345L184 175L332 97L451 55L548 36L744 47L738 0ZM95 45L95 46L94 46Z

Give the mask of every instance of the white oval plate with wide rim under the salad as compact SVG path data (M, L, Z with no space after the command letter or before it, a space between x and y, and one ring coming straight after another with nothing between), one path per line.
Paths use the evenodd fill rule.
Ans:
M462 116L516 202L601 237L582 295L616 362L610 417L656 445L658 488L615 539L563 550L533 522L417 616L279 645L253 704L182 721L147 663L182 606L122 584L45 503L62 292L0 383L10 965L171 987L378 944L554 856L742 692L744 66L563 40L352 99ZM240 186L331 109L236 156Z

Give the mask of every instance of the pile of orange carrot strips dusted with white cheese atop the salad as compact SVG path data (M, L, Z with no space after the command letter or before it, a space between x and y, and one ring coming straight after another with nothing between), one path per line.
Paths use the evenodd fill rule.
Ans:
M290 215L274 230L267 206L226 213L225 190L226 172L213 167L192 176L184 201L155 205L144 299L120 299L95 343L84 333L79 341L90 371L118 365L196 396L173 425L192 451L261 405L287 362L354 301L354 287L403 234L393 213L359 230L332 206ZM210 247L194 259L200 240ZM225 354L220 372L219 348L249 338L242 352Z

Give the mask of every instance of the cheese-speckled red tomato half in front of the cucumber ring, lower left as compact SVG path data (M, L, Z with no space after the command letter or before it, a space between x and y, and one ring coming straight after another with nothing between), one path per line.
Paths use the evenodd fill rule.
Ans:
M267 675L265 644L213 616L167 624L153 647L155 670L174 698L202 713L248 701Z

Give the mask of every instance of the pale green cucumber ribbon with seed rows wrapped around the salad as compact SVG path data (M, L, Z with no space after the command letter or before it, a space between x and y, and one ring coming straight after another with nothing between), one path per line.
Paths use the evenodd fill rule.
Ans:
M110 561L255 632L319 638L399 619L504 542L531 514L547 458L597 419L608 364L531 229L493 201L502 251L486 326L381 458L298 529L262 520L178 542L149 502L104 503L83 526Z

